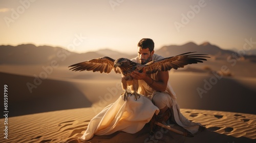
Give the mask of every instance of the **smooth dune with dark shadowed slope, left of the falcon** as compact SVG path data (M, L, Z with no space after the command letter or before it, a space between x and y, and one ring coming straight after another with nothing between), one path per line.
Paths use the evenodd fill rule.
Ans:
M9 87L10 116L91 107L94 103L103 108L123 92L119 79L110 81L50 77L39 82L35 77L7 73L0 73L0 78L2 87L4 84ZM29 89L28 83L35 88Z

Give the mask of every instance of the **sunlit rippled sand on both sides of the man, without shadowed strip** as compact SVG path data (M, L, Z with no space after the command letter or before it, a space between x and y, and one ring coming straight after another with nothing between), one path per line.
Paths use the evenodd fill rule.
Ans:
M208 130L256 139L256 115L195 109L181 112ZM8 139L1 137L0 142L77 142L95 115L93 108L80 108L10 117Z

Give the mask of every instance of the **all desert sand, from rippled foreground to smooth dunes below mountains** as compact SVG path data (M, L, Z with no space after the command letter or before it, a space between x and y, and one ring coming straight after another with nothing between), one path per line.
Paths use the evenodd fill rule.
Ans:
M9 87L9 116L8 139L3 135L5 118L1 116L0 142L78 142L90 120L123 92L120 75L72 73L67 67L53 69L30 92L27 83L34 84L34 75L43 71L40 65L37 70L34 67L1 65L1 86ZM116 132L94 136L86 142L145 142L149 138L155 142L157 139L158 142L255 142L256 78L216 77L211 88L205 89L205 81L212 77L216 76L184 71L170 73L181 112L206 127L194 137L171 131L152 136L146 125L136 134ZM198 88L206 92L200 96Z

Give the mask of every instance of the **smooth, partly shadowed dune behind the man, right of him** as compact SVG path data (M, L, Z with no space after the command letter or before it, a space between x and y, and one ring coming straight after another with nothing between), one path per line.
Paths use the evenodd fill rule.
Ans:
M173 73L170 82L182 108L256 114L256 78Z

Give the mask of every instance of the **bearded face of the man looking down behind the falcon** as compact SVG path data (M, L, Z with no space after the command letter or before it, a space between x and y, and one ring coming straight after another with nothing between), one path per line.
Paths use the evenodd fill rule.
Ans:
M138 57L140 59L140 64L146 64L150 61L152 61L152 55L154 54L154 51L150 52L150 49L141 49L138 47Z

